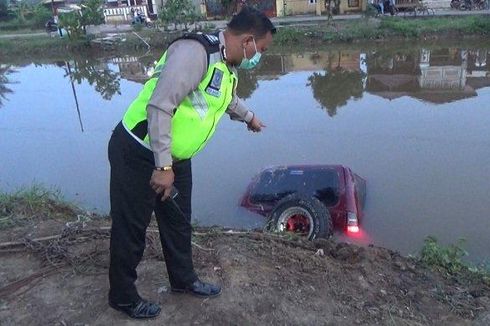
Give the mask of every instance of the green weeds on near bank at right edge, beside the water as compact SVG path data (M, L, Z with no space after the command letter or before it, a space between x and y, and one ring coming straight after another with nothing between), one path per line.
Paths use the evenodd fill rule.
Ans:
M435 237L429 236L424 241L419 261L447 277L481 280L490 285L490 266L476 266L464 261L464 257L468 256L463 248L464 242L464 239L460 239L456 243L443 246Z

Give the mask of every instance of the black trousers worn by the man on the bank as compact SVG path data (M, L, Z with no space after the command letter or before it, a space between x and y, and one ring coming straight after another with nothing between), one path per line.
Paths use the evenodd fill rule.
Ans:
M139 299L134 282L136 267L145 249L146 228L154 211L160 232L165 263L172 287L182 288L197 280L192 264L190 160L174 162L175 206L162 202L150 186L154 169L152 151L138 143L122 126L114 129L109 141L111 165L111 242L109 299L130 303ZM179 209L180 208L180 209Z

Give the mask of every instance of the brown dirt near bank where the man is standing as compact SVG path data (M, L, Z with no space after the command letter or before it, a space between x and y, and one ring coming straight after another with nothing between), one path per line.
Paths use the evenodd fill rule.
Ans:
M35 188L2 194L0 221L5 325L125 322L107 305L107 217ZM192 241L198 274L222 284L223 294L203 300L169 292L153 221L138 287L163 310L148 324L487 325L490 320L487 275L454 268L455 257L448 258L452 267L429 265L428 258L442 253L432 245L420 258L407 258L375 246L262 232L196 228Z

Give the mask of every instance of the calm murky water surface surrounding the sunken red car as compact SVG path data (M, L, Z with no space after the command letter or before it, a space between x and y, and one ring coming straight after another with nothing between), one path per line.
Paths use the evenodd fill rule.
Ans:
M1 64L0 189L40 183L107 213L107 140L153 59ZM429 234L464 237L470 258L489 258L490 49L269 54L240 77L240 95L267 128L251 134L223 119L193 160L194 220L261 227L238 207L255 173L343 164L368 182L356 241L408 254Z

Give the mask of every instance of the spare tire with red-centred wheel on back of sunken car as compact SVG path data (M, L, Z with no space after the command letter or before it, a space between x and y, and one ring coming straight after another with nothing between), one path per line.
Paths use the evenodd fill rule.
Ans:
M332 218L317 198L294 193L281 199L272 210L269 229L299 233L308 240L328 238L332 235Z

